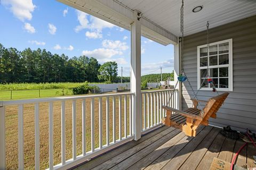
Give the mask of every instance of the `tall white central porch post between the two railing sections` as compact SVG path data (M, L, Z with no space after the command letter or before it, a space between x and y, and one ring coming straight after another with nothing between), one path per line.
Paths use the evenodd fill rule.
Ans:
M134 22L131 24L131 92L132 126L134 139L141 138L141 22L140 13L134 11Z

